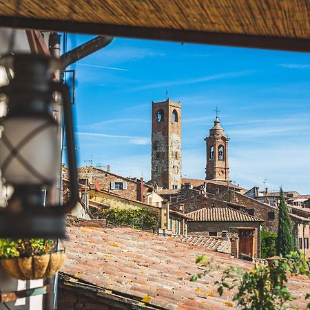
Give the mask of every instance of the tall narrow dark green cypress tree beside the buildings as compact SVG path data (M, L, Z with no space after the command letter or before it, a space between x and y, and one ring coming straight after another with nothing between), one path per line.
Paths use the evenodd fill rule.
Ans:
M283 195L282 187L280 188L280 206L279 206L279 225L278 236L276 240L277 255L285 256L293 251L293 233L291 231L291 220Z

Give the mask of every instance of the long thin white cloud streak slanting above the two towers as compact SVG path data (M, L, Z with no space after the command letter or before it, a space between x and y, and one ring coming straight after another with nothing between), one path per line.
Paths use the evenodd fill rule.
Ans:
M178 81L166 81L166 82L159 82L159 83L151 83L147 85L141 85L138 87L133 87L133 91L139 91L139 90L151 90L153 88L159 88L159 87L168 87L168 86L176 86L176 85L188 85L188 84L195 84L195 83L203 83L207 81L214 81L214 80L220 80L220 79L233 79L240 76L247 76L249 74L253 74L253 70L245 70L240 72L227 72L227 73L221 73L221 74L213 74L208 76L200 76L198 78L194 79L184 79L184 80L178 80Z

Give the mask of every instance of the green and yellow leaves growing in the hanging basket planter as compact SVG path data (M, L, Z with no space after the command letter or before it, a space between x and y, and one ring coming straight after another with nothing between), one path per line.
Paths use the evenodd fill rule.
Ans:
M43 255L54 250L50 239L0 239L0 258Z

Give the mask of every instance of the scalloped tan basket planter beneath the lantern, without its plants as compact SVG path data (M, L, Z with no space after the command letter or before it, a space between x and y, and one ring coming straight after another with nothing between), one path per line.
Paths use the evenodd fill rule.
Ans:
M0 260L6 272L16 279L37 280L54 276L65 262L65 252L58 251L41 256L7 258Z

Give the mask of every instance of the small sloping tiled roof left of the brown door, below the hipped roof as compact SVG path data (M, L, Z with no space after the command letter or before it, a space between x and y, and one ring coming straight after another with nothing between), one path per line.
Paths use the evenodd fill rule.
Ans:
M211 251L231 254L228 239L225 240L221 237L174 235L172 236L172 238L176 238L182 242L189 243L191 245L205 247Z

